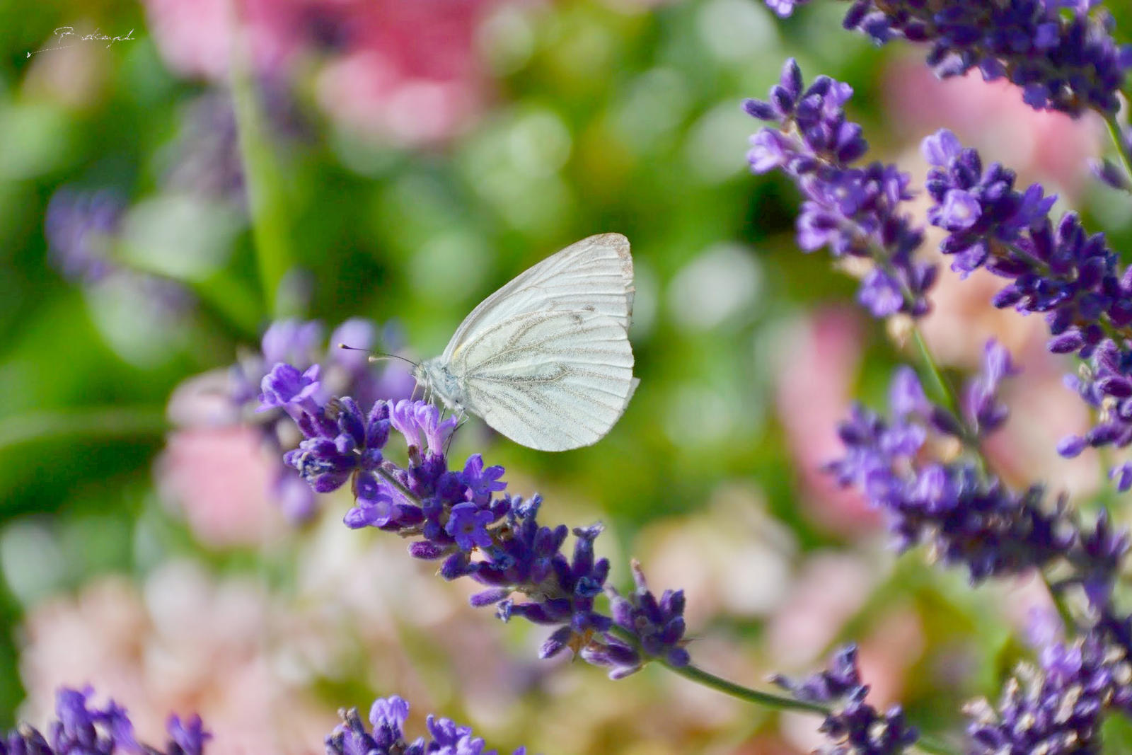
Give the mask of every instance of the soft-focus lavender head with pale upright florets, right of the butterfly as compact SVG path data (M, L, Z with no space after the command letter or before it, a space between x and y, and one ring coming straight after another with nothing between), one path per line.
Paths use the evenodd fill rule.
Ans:
M1049 506L1040 487L1014 492L977 456L933 458L933 445L949 437L977 454L979 438L1005 420L996 391L1013 372L1009 354L989 344L984 371L968 384L966 422L958 422L924 397L915 372L899 370L891 419L856 406L838 429L846 455L826 467L885 514L900 550L928 543L943 563L966 566L972 582L1040 567L1077 541L1064 504Z

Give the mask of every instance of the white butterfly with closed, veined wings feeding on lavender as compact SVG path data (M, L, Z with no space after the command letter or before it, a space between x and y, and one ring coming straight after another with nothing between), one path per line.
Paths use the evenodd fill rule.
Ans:
M413 369L426 395L515 443L600 440L633 396L633 257L620 233L582 239L480 302L444 353Z

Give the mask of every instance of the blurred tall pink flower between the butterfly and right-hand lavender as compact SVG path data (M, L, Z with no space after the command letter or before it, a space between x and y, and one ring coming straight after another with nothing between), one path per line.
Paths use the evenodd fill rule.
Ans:
M860 318L849 308L817 310L798 323L783 343L775 409L801 478L801 503L831 530L871 532L880 515L855 490L839 488L822 471L843 453L837 426L848 417L860 362Z

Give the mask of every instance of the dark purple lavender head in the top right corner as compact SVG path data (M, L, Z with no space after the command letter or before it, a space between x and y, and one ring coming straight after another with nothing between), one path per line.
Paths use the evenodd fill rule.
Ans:
M893 37L929 45L937 76L978 68L983 78L1006 78L1035 110L1112 114L1132 46L1117 45L1113 19L1098 3L1052 0L856 0L842 22L878 44ZM1061 8L1074 8L1063 14Z

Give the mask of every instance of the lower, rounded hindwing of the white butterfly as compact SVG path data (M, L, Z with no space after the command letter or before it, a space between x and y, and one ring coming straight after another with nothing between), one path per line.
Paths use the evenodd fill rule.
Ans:
M568 451L600 440L636 378L623 320L589 310L520 312L463 344L466 407L515 443Z

